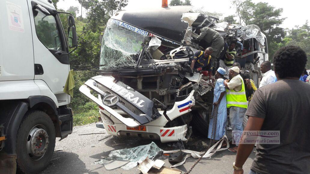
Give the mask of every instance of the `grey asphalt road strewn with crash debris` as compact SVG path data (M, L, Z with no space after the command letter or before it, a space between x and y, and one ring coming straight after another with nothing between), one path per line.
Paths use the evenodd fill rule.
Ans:
M105 134L90 134L90 133L105 133ZM229 131L228 131L229 133ZM79 135L79 134L90 134L90 135ZM196 133L197 134L197 133ZM201 141L209 144L206 138L202 138L195 132L193 134L193 140L189 141L185 148L195 151L203 151L205 147L202 146ZM42 173L68 173L68 174L125 174L125 173L140 173L135 167L130 170L124 170L118 168L112 171L105 170L104 166L95 164L94 162L107 157L110 151L124 148L131 148L140 145L146 145L151 143L150 140L142 140L139 138L127 138L127 137L114 137L106 134L105 129L95 127L95 123L83 126L75 126L73 133L67 138L56 141L55 150L63 149L61 151L55 151L52 160L48 167L42 171ZM106 138L107 137L107 138ZM105 138L104 140L101 140ZM99 141L101 140L101 141ZM116 143L124 143L123 145L115 145ZM161 143L155 141L157 146L163 150L175 150L172 148L172 143ZM232 163L235 161L236 154L227 150L218 151L211 158L204 158L195 166L191 173L232 173ZM255 153L251 153L250 157L244 164L244 172L250 171L250 166L255 157ZM165 161L166 167L172 166L168 162L168 158L164 156L162 159ZM187 172L188 169L193 165L197 159L189 157L184 165L177 167L182 173Z

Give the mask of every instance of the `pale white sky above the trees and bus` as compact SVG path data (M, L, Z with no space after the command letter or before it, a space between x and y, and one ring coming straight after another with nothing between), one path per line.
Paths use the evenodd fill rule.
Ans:
M231 7L230 0L191 0L194 7L200 8L201 6L209 12L222 13L224 18L228 15L234 15L235 9ZM309 8L310 1L294 0L294 2L286 2L283 0L252 0L252 2L268 2L269 5L275 6L276 8L283 8L281 18L285 18L283 24L280 25L282 28L293 28L295 25L303 25L306 20L310 22ZM168 4L170 0L168 0ZM128 5L124 10L132 10L137 8L149 7L149 6L161 6L162 0L128 0ZM77 0L60 0L57 3L57 7L67 10L70 6L78 6L80 11L78 15L81 15L81 5ZM82 9L82 16L86 16L86 11ZM237 19L237 18L236 18Z

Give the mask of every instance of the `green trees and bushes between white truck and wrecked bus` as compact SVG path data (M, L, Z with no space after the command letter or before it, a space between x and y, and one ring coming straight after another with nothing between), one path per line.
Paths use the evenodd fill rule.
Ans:
M53 0L56 6L59 0ZM76 16L78 7L70 6L67 12L75 17L75 25L78 35L78 48L69 55L70 69L82 66L98 65L100 61L100 32L105 29L107 20L113 15L113 11L119 11L127 5L128 0L78 0L86 10L86 18ZM63 9L57 9L64 11ZM64 31L68 35L68 14L59 14ZM74 112L74 125L87 124L96 120L98 114L96 104L79 91L79 87L88 79L95 76L92 71L75 71L74 97L71 98L69 107ZM90 117L92 116L92 117Z

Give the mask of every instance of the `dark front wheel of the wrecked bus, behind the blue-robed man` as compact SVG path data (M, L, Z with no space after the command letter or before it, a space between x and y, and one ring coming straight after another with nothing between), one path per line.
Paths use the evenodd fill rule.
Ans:
M201 135L208 137L209 117L206 112L203 113L194 111L191 125L194 129L197 129Z

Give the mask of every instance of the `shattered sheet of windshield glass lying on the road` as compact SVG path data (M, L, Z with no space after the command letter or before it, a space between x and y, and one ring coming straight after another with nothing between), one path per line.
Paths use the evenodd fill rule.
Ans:
M125 166L122 166L123 169L129 170L137 166L137 163L142 163L142 161L147 157L149 159L153 159L153 157L156 156L159 151L163 150L160 149L154 142L152 142L147 145L111 151L108 156L111 159L130 161ZM94 163L104 165L106 162L108 162L106 159L100 159Z

